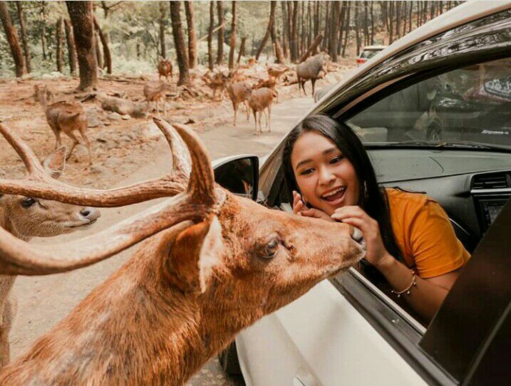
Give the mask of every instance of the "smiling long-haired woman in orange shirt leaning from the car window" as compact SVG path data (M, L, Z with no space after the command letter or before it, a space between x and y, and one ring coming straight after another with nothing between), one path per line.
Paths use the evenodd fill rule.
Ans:
M425 194L380 189L357 135L326 115L291 130L283 162L294 213L361 229L368 263L430 320L470 257L440 205Z

